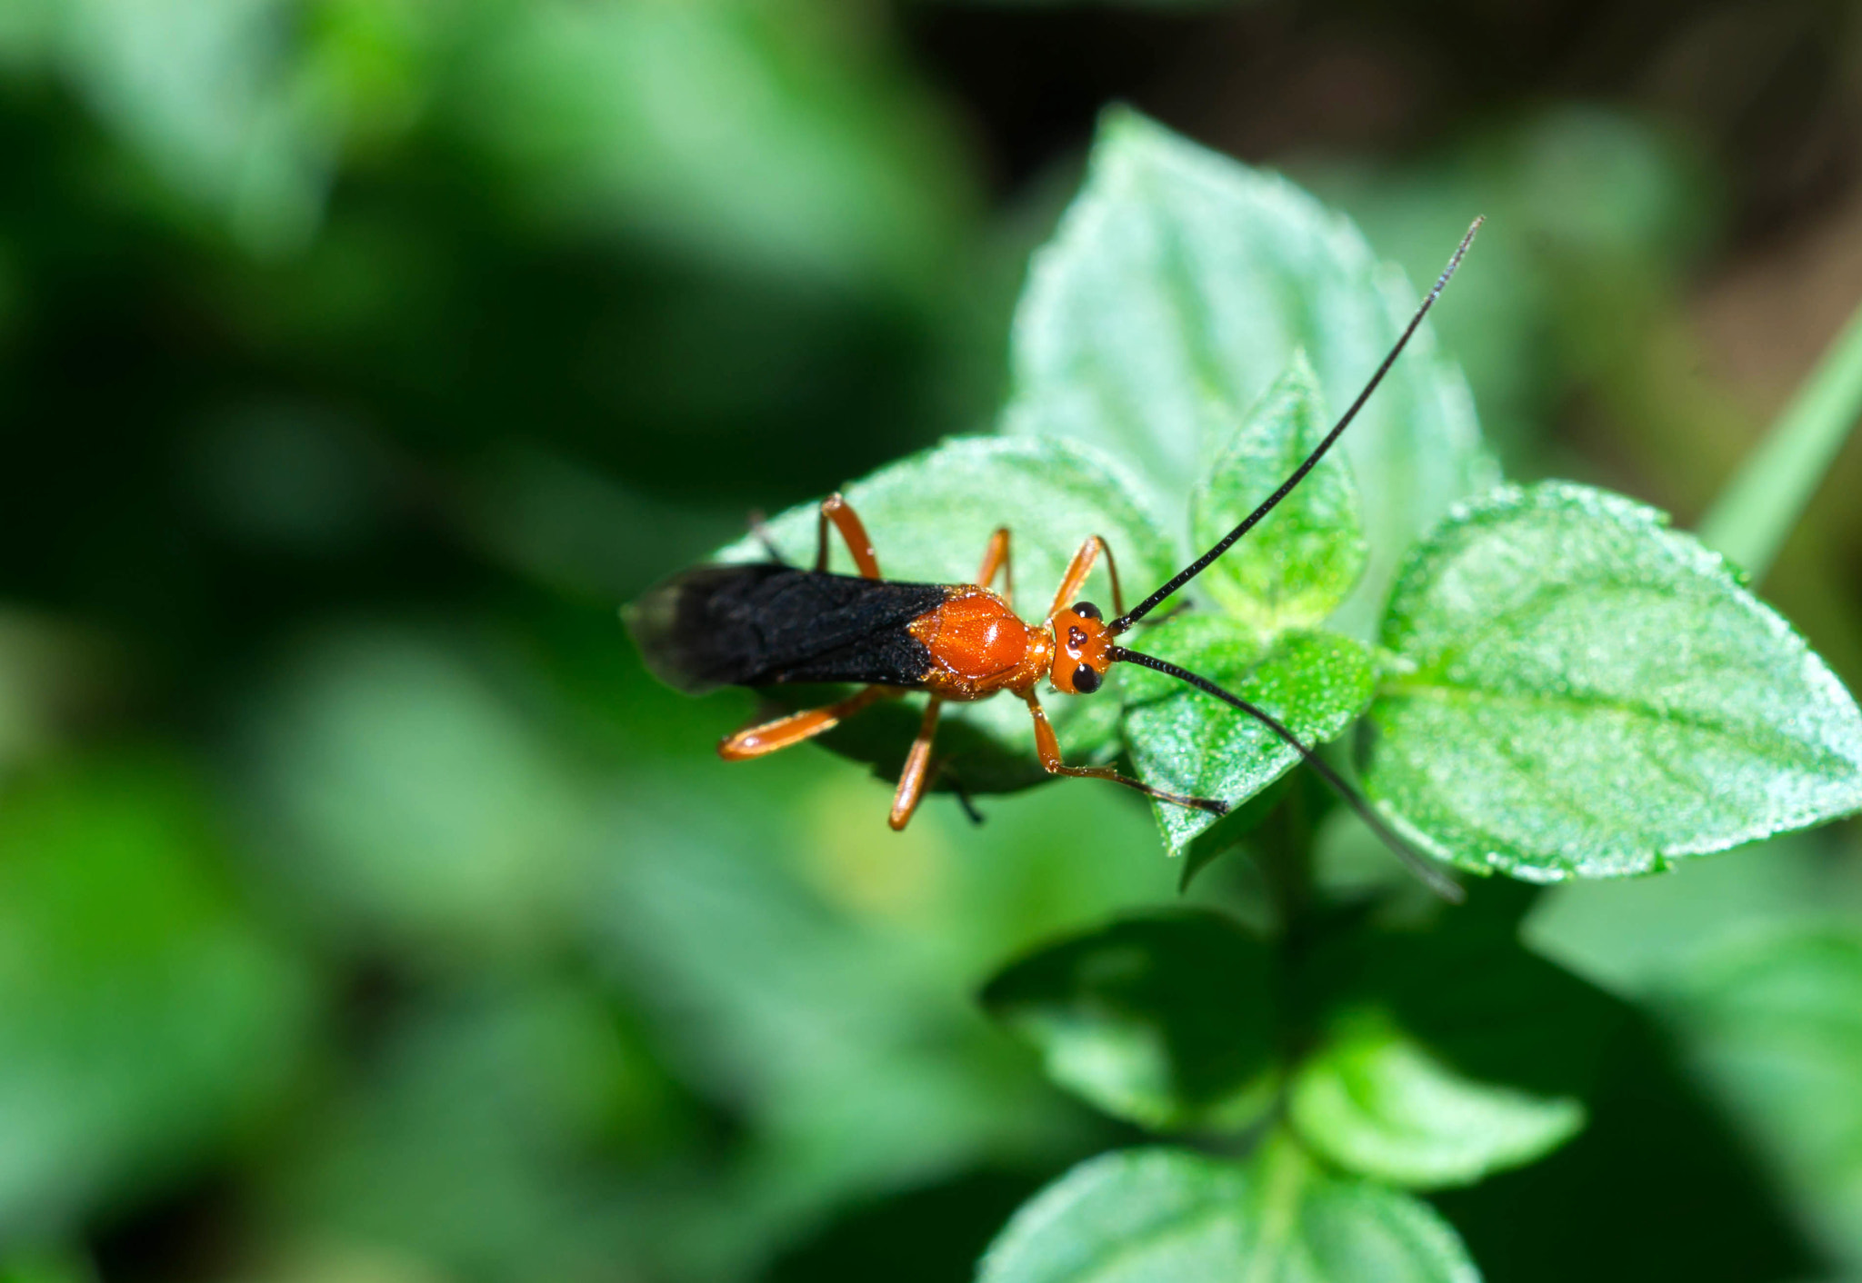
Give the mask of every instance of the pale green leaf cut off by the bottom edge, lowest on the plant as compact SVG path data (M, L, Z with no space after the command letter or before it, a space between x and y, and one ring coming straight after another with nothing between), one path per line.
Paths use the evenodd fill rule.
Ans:
M1424 1203L1322 1175L1270 1140L1246 1166L1175 1149L1093 1158L1026 1203L979 1283L1475 1283Z

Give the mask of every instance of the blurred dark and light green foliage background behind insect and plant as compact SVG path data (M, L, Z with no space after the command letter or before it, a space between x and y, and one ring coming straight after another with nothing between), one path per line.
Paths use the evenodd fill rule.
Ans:
M1136 1136L974 991L1175 896L1147 812L894 836L614 614L989 426L1110 101L1411 279L1486 212L1437 328L1508 471L1683 525L1862 300L1847 4L0 0L0 1277L963 1279ZM1858 482L1761 585L1851 689ZM1674 979L1853 944L1856 842L1529 933L1862 1274L1862 1009Z

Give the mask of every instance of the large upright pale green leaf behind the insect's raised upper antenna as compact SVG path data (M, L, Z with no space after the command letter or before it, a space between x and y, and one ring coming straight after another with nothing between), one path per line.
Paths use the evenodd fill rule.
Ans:
M1443 259L1460 233L1441 229ZM1296 350L1346 406L1417 302L1344 218L1279 175L1113 110L1030 270L1004 428L1099 445L1140 471L1158 512L1181 512ZM1426 326L1343 445L1367 486L1370 562L1341 620L1369 639L1402 551L1497 477Z

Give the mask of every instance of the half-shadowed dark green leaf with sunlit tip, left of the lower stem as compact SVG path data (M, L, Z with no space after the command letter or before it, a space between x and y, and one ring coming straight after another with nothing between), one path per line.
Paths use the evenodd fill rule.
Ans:
M1270 950L1194 909L1125 918L1013 963L989 1013L1054 1082L1149 1128L1244 1127L1272 1102Z

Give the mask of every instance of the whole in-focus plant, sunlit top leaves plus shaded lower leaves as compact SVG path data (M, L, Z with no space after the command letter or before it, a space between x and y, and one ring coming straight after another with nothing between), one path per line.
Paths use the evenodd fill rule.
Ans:
M1356 229L1283 179L1113 112L1033 261L1000 432L845 493L894 577L970 579L1007 525L1024 616L1091 534L1136 596L1313 451L1411 307ZM804 505L769 534L806 560L814 529ZM1663 514L1503 484L1428 328L1344 449L1182 596L1136 650L1348 747L1341 765L1391 825L1467 873L1652 873L1862 808L1862 713L1828 667ZM1056 1084L1216 1153L1076 1168L1009 1222L981 1279L1478 1277L1417 1194L1568 1147L1620 1089L1612 1043L1650 1045L1639 1017L1518 942L1525 888L1482 888L1424 931L1316 894L1309 827L1257 829L1303 806L1270 788L1298 754L1162 674L1117 676L1056 708L1063 747L1231 801L1229 819L1160 804L1156 823L1186 883L1253 844L1274 933L1203 909L1125 916L985 987ZM829 743L890 773L914 721L896 709ZM1019 706L953 721L970 790L1039 782Z

